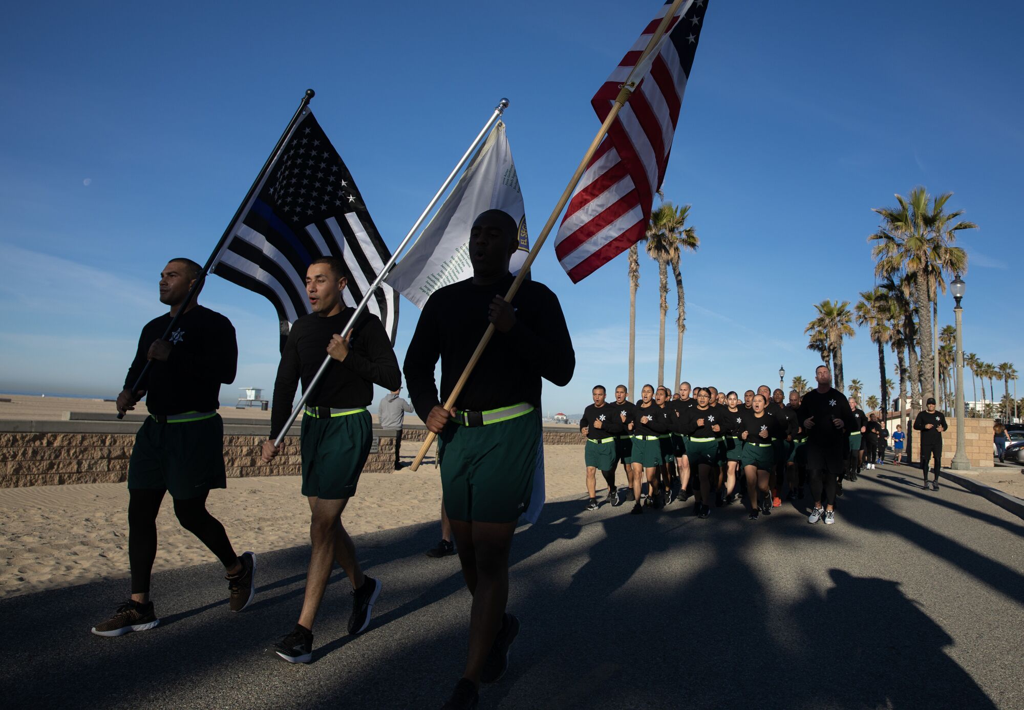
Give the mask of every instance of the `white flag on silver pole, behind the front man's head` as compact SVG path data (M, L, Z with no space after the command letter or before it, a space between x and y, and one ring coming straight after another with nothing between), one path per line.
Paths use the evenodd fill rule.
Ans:
M526 210L501 121L420 238L384 280L422 309L441 286L472 276L469 230L477 215L487 210L503 210L519 225L519 249L509 265L512 273L518 273L529 253Z

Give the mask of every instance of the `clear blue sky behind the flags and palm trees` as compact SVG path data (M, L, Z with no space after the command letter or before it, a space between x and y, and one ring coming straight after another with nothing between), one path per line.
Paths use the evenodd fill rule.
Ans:
M591 95L657 4L13 6L0 29L0 390L120 391L161 311L161 267L205 261L307 87L392 247L508 96L536 235L598 128ZM953 191L981 226L962 240L966 350L1014 360L1022 24L1002 3L711 0L664 186L693 206L701 238L683 264L685 379L746 388L776 383L779 364L809 379L812 304L872 285L870 209L918 184ZM593 384L626 380L625 255L572 285L549 242L534 273L561 299L578 356L545 410L581 411ZM644 258L638 384L656 379L656 283ZM239 332L222 401L269 389L270 305L217 277L202 302ZM951 322L950 298L940 312ZM417 315L402 303L399 359ZM671 329L667 351L668 380ZM866 331L844 355L847 380L878 393Z

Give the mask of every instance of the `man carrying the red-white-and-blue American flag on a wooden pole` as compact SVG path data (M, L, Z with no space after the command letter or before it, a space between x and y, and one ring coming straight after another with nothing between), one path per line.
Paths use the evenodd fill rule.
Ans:
M476 707L479 683L495 682L508 667L519 630L516 617L505 611L512 534L527 505L539 513L530 503L542 454L541 380L564 386L575 368L561 306L547 286L524 280L511 304L504 299L518 243L516 222L507 213L488 210L476 218L469 233L473 276L430 296L403 366L413 406L438 435L444 507L473 595L466 668L444 705L452 710ZM488 323L494 337L447 410L441 402Z

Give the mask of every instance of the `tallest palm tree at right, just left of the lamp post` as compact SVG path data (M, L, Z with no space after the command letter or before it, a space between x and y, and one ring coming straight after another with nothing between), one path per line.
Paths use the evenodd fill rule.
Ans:
M936 356L932 343L933 309L929 306L937 298L937 287L945 292L943 274L953 273L954 268L956 273L967 270L967 253L952 246L956 232L977 228L973 222L954 223L963 211L943 213L950 196L951 192L936 195L929 205L929 194L920 186L906 197L897 194L899 207L874 209L882 216L882 225L867 237L874 242L871 256L876 259L878 276L905 274L911 279L909 298L918 312L921 365L928 374L934 370ZM923 385L924 397L934 397L932 378L925 378Z

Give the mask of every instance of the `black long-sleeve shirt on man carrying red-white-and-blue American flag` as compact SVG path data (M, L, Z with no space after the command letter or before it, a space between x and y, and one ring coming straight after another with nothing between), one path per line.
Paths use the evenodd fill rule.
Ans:
M480 285L472 278L438 289L427 299L406 352L402 369L410 399L420 418L446 401L487 329L490 302L512 285L507 275L497 283ZM512 299L515 325L496 331L456 407L484 411L519 402L541 406L541 379L559 387L575 369L575 353L558 299L543 283L523 281ZM441 361L440 393L434 366Z

